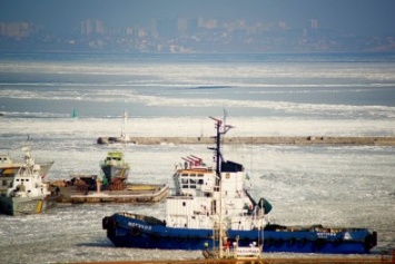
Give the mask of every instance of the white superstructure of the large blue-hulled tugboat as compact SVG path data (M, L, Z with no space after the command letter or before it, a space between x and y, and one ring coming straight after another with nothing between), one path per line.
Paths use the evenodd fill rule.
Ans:
M223 163L219 180L213 167L197 160L176 167L176 195L166 202L167 226L213 228L220 215L230 229L260 229L267 225L264 209L245 189L248 177L241 165Z

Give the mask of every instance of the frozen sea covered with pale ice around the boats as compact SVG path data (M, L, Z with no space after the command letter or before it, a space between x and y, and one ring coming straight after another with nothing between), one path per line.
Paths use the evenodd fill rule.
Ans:
M29 137L48 179L98 174L108 150L131 164L130 180L172 186L182 156L211 160L206 145L97 145L119 136L394 136L395 55L0 55L0 151L21 156ZM77 117L72 118L73 110ZM278 224L367 227L373 254L395 247L395 147L224 146L243 163L251 194ZM0 263L197 258L200 252L116 248L101 218L118 211L165 217L156 205L60 205L0 215Z

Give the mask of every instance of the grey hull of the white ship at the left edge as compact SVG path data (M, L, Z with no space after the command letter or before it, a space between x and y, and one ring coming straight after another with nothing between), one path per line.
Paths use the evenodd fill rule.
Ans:
M1 197L0 213L6 215L39 214L55 207L57 204L53 196L39 197Z

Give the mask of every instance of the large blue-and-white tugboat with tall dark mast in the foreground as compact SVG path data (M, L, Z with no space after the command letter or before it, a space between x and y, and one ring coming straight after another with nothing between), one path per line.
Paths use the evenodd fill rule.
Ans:
M166 221L127 212L105 217L102 227L116 246L197 251L224 246L218 223L225 243L263 246L264 252L366 254L376 246L377 233L366 228L269 223L271 205L265 198L256 202L245 188L249 177L244 166L221 155L220 136L231 127L215 120L216 147L210 148L215 167L197 156L185 158L174 175L176 194L166 201Z

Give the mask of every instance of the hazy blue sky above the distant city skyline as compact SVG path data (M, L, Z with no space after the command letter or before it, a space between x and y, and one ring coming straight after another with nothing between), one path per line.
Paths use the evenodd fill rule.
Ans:
M0 21L52 29L78 27L87 18L121 27L177 17L286 21L295 28L317 19L323 29L395 35L395 0L0 0Z

